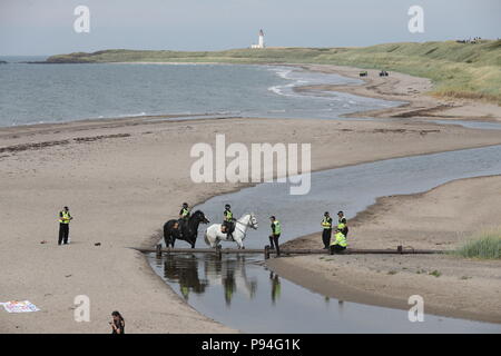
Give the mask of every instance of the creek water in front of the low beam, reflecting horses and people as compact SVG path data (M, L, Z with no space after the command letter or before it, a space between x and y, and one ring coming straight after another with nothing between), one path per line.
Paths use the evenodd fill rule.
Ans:
M328 298L269 271L259 255L148 255L154 270L202 314L246 333L499 333L501 325Z

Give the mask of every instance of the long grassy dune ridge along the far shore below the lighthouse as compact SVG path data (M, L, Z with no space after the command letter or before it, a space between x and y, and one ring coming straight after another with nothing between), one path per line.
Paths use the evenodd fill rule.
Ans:
M432 95L501 105L501 40L403 42L363 48L266 48L226 51L105 50L52 56L48 62L325 63L430 78Z

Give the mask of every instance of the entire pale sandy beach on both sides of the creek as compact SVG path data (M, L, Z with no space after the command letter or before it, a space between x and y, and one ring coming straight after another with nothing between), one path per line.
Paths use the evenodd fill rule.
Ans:
M312 66L311 69L350 75L332 66ZM355 72L357 69L352 69L351 75ZM391 73L390 78L400 77ZM384 113L366 113L392 117L402 115L401 110L420 109L424 106L421 100L430 101L430 106L441 106L433 98L422 96L429 86L423 79L405 76L405 80L383 86L385 89L382 86L373 88L372 83L331 89L358 91L355 93L390 100L397 97L410 102ZM500 120L495 110L483 103L451 105L440 111L441 115ZM117 309L126 318L127 333L237 332L188 306L153 273L140 253L129 248L154 246L156 230L177 216L183 201L195 205L243 187L227 182L194 184L189 177L195 161L189 157L191 146L197 142L214 146L217 134L226 135L227 145L312 144L312 169L321 170L501 145L499 131L436 125L426 122L426 117L422 112L391 121L307 118L169 121L157 117L154 120L126 118L0 128L0 260L8 271L0 277L0 300L29 299L41 309L24 315L0 313L0 333L109 333L109 315ZM414 247L436 247L438 243L443 245L441 248L454 246L477 226L500 220L495 212L499 205L495 192L500 186L499 177L480 178L452 182L416 197L383 198L370 212L351 221L353 244L381 247L402 241ZM71 244L57 246L57 214L65 205L75 216L70 226ZM409 209L401 209L401 205L407 205ZM469 207L474 207L475 212L472 214ZM412 214L412 219L406 214ZM436 221L422 230L421 222L429 221L430 216ZM385 230L394 235L379 234L381 224L386 224ZM438 229L440 234L436 234ZM43 240L47 244L40 244ZM95 246L96 243L101 245ZM292 244L317 246L320 240L317 236L310 236ZM199 240L197 246L204 246L204 243ZM395 307L402 307L402 298L411 291L403 285L419 283L420 290L430 293L425 299L429 296L433 299L430 310L479 319L494 315L492 320L501 320L499 263L463 264L452 258L431 257L404 261L403 258L383 260L379 256L364 259L346 256L324 261L317 256L308 256L275 259L271 266L283 271L285 278L313 289L314 284L320 285L322 280L328 281L325 283L327 287L330 283L341 283L333 276L336 269L351 277L350 286L356 293L348 293L348 297L365 293L384 304L389 295L400 290L401 294L393 294L396 300L391 305ZM318 264L324 271L315 276L324 278L321 281L307 277L318 269ZM353 275L344 274L347 264ZM387 270L395 266L401 269L387 278ZM286 268L294 273L287 274ZM412 268L440 269L443 276L418 275ZM469 278L461 279L462 276ZM381 287L383 283L385 288ZM334 295L334 288L327 287L322 291ZM454 304L451 296L458 290L462 293L462 301ZM77 295L90 297L90 323L73 320ZM445 310L443 305L448 300L452 304ZM473 309L479 304L482 305L480 314ZM498 314L492 314L495 309Z

